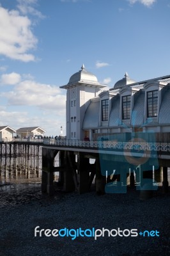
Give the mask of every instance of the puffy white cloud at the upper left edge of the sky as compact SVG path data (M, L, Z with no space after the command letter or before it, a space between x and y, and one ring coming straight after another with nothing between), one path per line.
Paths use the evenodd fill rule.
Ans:
M37 42L31 32L31 20L0 6L0 54L13 60L35 61L28 51L35 49Z

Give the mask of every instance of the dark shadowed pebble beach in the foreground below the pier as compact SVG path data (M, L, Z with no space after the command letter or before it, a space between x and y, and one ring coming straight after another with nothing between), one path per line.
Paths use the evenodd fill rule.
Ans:
M83 195L62 193L49 198L40 184L14 184L0 188L0 255L170 255L169 193L154 192L141 201L139 192L98 196L95 191ZM35 237L39 229L137 229L138 236ZM140 236L144 230L157 230L159 236ZM114 231L115 234L116 231ZM122 233L121 233L122 234ZM128 235L128 231L124 234Z

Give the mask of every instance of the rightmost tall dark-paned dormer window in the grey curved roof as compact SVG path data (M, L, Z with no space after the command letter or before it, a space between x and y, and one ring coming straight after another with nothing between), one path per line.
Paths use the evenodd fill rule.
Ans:
M157 116L158 90L147 92L147 117Z

